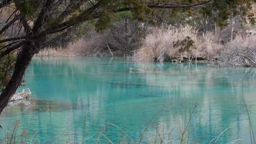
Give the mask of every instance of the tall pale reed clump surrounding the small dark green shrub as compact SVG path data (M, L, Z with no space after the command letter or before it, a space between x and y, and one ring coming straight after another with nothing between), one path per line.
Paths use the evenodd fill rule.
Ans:
M180 47L174 46L177 41L182 41L189 36L193 41L190 53L180 53ZM201 36L197 30L191 26L180 28L155 28L143 40L141 48L135 52L133 60L135 61L164 61L165 56L169 57L190 57L192 55L208 56L210 51L219 48L219 40L212 33ZM210 50L210 51L209 51Z

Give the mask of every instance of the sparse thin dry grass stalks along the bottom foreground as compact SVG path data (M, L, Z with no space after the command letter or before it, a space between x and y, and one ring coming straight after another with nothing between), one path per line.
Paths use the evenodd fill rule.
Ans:
M253 132L253 125L251 122L251 117L249 114L249 110L247 108L247 104L242 98L244 106L246 108L248 121L250 125L250 137L251 137L251 144L255 144L255 136ZM171 104L171 103L170 103ZM99 132L96 132L93 135L89 135L85 133L86 127L83 127L82 132L82 140L76 139L77 137L74 136L73 138L68 138L70 134L73 135L73 131L69 131L68 129L65 130L63 133L54 136L53 138L47 140L44 143L39 142L34 139L35 135L37 135L37 132L34 134L27 134L27 130L23 129L21 134L18 134L18 128L20 125L20 121L14 123L12 127L8 128L8 131L6 135L3 137L3 140L1 141L2 144L87 144L87 143L95 143L95 144L115 144L114 140L112 140L110 137L107 136L107 133L109 132L110 128L113 130L117 130L119 132L119 140L117 143L119 144L197 144L198 140L202 138L201 136L191 138L191 134L194 130L196 130L197 126L192 126L191 124L193 121L200 121L200 117L193 117L195 114L195 110L197 109L197 103L193 106L193 108L186 109L181 114L176 114L175 122L176 126L168 125L165 122L154 122L154 118L157 115L163 114L168 106L170 104L164 106L160 111L158 111L146 124L145 128L142 129L141 135L139 137L136 137L134 139L133 137L129 136L125 130L115 124L109 123L109 125L104 126L102 129L99 130ZM178 108L180 109L180 108ZM85 107L84 112L84 123L87 118L87 106ZM232 126L227 127L223 131L219 133L219 135L216 135L213 139L210 140L210 142L205 142L206 144L217 144L219 141L219 138L229 129L231 129ZM175 135L178 134L178 135ZM74 133L76 135L76 133ZM242 139L235 139L231 141L229 144L235 144L236 142L240 141Z

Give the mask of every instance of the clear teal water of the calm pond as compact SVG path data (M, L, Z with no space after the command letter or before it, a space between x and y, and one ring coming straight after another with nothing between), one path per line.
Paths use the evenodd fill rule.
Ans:
M129 72L129 67L145 72ZM120 135L124 141L136 142L142 134L142 142L149 143L156 129L170 133L176 144L179 126L184 122L186 127L193 112L188 126L191 142L209 144L226 129L216 144L237 139L236 144L249 144L242 98L256 126L254 68L132 63L117 57L55 57L34 59L24 80L23 87L33 93L31 107L15 104L4 111L0 139L19 119L18 133L27 129L29 141L40 144L56 140L61 144L81 144L82 140L87 144L97 140L117 144Z

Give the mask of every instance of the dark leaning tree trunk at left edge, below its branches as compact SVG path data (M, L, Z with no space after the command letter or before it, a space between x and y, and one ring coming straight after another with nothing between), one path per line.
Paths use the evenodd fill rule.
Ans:
M17 56L15 63L15 69L12 74L12 77L7 84L6 88L2 91L0 95L0 114L3 109L7 106L9 99L16 92L18 86L22 81L22 77L27 69L28 64L30 63L34 53L32 50L32 45L23 45L21 51Z

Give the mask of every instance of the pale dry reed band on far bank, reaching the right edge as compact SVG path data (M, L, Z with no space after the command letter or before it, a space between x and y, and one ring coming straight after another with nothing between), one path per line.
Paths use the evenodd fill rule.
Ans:
M248 29L248 27L247 27ZM253 29L250 27L250 30ZM191 52L179 52L180 47L174 46L176 41L182 41L186 36L194 41ZM221 44L221 41L223 44ZM220 33L216 36L211 32L199 34L193 27L181 28L155 28L143 40L143 45L135 52L134 61L165 61L166 57L206 57L208 59L220 58L221 54L232 54L246 48L256 49L256 36L239 32L233 40L224 42Z

